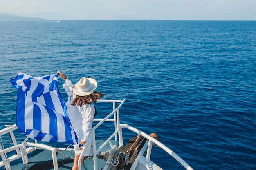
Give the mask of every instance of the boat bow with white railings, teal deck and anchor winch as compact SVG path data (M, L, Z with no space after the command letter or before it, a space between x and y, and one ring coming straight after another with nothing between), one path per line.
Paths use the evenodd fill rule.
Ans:
M124 102L125 100L99 100L99 103L112 104L110 107L113 109L103 119L94 119L94 122L99 123L91 130L91 155L85 157L83 165L79 164L79 170L163 170L161 165L156 165L150 160L154 146L162 148L166 152L166 157L173 157L185 169L193 170L182 158L159 142L156 134L148 135L128 124L120 124L120 108ZM104 126L106 132L111 132L108 139L96 139L97 129L106 123L112 125ZM4 167L6 170L69 170L72 168L74 149L56 148L48 144L49 142L29 141L31 140L29 137L18 144L13 132L16 129L18 127L14 124L0 130L0 137L9 134L9 145L12 145L7 147L3 142L0 145L2 159L0 168ZM124 131L137 135L124 144Z

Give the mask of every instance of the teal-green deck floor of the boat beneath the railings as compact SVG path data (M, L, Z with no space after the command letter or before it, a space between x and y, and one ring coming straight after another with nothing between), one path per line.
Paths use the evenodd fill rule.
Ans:
M96 147L101 146L105 140L96 140ZM113 145L117 144L118 141L112 140ZM107 144L103 149L102 152L106 152L110 150L110 144ZM61 153L68 155L69 157L74 157L74 150L70 151L62 151ZM58 170L70 170L74 164L74 159L66 157L61 153L57 152L57 160L58 160ZM92 148L91 148L92 153ZM11 170L54 170L53 163L52 163L52 152L49 150L37 149L34 150L29 156L29 163L23 164L22 162L16 163L11 165ZM92 170L94 169L93 165L93 157L85 157L83 161L82 170ZM40 161L38 161L40 160ZM97 159L97 169L101 170L104 166L104 159ZM2 167L4 170L4 167ZM0 168L0 170L2 170Z

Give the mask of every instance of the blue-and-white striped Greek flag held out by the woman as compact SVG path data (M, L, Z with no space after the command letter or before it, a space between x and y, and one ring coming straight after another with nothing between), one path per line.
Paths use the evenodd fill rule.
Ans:
M58 89L58 73L42 77L18 73L10 82L18 89L16 125L21 134L40 141L78 143Z

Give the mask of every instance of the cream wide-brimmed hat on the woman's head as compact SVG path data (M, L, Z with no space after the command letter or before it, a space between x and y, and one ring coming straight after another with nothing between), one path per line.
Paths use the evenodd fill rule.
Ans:
M92 94L96 87L95 79L83 77L74 85L73 92L78 96L86 96Z

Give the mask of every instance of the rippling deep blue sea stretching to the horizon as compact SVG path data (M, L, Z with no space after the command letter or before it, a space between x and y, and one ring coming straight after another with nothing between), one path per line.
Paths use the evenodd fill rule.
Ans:
M255 28L256 21L1 21L0 128L16 123L9 81L18 72L60 70L72 82L96 79L102 99L126 99L121 123L157 133L195 170L255 170ZM151 158L164 170L185 169L159 147Z

